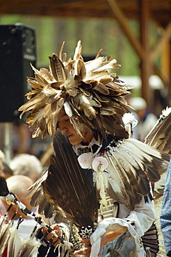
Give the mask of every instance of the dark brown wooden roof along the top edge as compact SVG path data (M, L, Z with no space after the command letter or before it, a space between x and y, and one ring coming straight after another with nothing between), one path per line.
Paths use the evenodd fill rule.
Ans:
M139 19L141 5L139 0L1 0L0 13L113 18L113 10L109 2L116 2L127 18ZM149 8L152 19L165 28L170 22L170 0L150 0Z

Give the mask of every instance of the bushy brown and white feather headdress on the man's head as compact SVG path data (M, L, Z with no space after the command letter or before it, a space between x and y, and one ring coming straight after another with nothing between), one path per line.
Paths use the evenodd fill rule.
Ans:
M63 43L64 45L64 43ZM129 94L125 83L111 69L118 69L116 60L101 57L84 63L81 56L81 41L75 49L73 60L66 61L62 54L63 45L57 56L49 57L50 69L35 69L35 78L28 78L31 92L29 101L19 108L22 115L30 111L26 122L34 130L33 138L56 133L56 122L61 108L70 117L77 133L81 135L79 122L86 124L100 142L108 134L115 138L128 138L122 116L129 113L127 101L122 97ZM21 117L22 117L21 115Z

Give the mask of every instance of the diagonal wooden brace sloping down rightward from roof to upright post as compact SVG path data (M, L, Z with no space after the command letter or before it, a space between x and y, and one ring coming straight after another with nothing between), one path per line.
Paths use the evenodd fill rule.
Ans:
M122 27L124 33L127 35L127 38L133 45L133 48L136 50L136 53L138 53L138 56L140 56L140 59L145 59L145 51L142 48L142 45L140 44L140 41L138 38L135 37L133 34L128 21L127 17L122 13L119 6L117 5L115 0L106 0L108 2L108 5L111 7L111 10L113 11L113 14L115 15L115 18L117 19L117 22L119 22L120 26Z

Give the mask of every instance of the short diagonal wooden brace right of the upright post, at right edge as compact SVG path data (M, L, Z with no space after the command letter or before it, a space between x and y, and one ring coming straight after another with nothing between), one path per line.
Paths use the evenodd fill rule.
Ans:
M163 33L163 36L158 40L156 47L150 54L150 60L151 62L154 62L156 58L158 57L158 53L163 49L163 45L166 42L169 42L171 39L171 22L168 24L167 28L165 28L165 32Z

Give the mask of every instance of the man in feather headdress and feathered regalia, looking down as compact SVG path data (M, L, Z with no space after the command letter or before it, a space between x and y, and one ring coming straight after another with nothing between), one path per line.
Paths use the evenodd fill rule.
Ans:
M130 138L122 119L129 114L124 96L130 88L111 73L120 65L101 51L84 63L79 41L73 59L67 60L62 45L58 56L49 57L49 70L33 67L29 101L19 110L30 112L26 122L33 137L54 138L54 154L30 188L31 205L46 217L56 215L54 229L73 243L72 251L62 251L52 238L58 256L156 255L156 238L153 249L142 239L155 230L151 183L170 156Z

